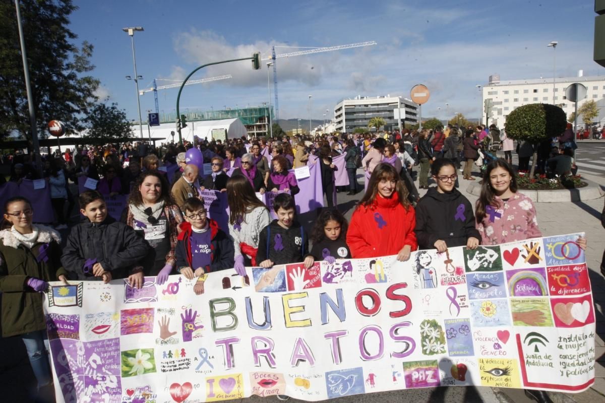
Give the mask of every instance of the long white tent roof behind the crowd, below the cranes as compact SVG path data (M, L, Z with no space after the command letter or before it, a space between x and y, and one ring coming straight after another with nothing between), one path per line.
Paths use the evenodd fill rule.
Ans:
M139 127L133 127L139 129ZM143 126L143 135L147 137L146 127ZM193 141L194 135L200 138L208 137L208 140L212 139L213 129L224 129L227 131L227 138L238 138L248 135L246 126L241 123L239 118L222 119L222 120L202 120L202 121L188 121L187 127L181 129L181 135L183 140ZM166 140L172 140L171 132L174 131L174 141L178 141L178 132L175 123L162 123L160 126L149 127L151 131L151 137L161 137ZM138 134L138 130L137 130Z

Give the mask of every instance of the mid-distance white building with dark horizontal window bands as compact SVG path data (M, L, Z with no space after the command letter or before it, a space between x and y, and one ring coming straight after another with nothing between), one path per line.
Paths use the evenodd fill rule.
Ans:
M404 97L358 95L334 107L335 130L339 132L352 133L359 127L367 128L373 117L385 120L385 130L402 129L404 123L418 123L418 105Z

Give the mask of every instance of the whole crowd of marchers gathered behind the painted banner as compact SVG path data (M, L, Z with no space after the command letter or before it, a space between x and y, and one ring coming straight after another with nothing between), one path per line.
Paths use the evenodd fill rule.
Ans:
M565 136L540 146L540 172L571 175L571 139ZM504 159L496 158L494 144ZM528 169L532 147L518 144L519 170ZM22 338L39 388L48 388L41 296L48 282L126 279L140 288L149 276L162 285L171 274L193 279L235 268L245 276L246 266L304 262L309 268L318 260L390 255L405 261L416 250L473 250L540 237L534 205L517 192L513 150L495 126L448 125L224 143L196 137L157 148L143 141L76 147L42 156L42 166L31 153L4 155L11 169L9 178L0 176L2 336ZM473 177L473 167L480 167L481 178ZM299 175L310 174L299 172L306 169L320 181L321 200L314 205L301 191ZM482 179L476 205L457 189L460 174ZM436 185L429 187L429 178ZM427 189L422 198L416 180ZM210 191L226 200L222 221L204 200ZM51 219L35 219L40 192ZM364 192L350 222L338 210L341 192ZM110 214L116 200L122 201L114 203L119 211ZM316 214L308 232L297 220L302 211ZM492 211L509 219L494 220ZM586 248L586 239L578 244ZM422 262L417 266L425 288L436 286L434 273ZM540 390L526 394L550 401Z

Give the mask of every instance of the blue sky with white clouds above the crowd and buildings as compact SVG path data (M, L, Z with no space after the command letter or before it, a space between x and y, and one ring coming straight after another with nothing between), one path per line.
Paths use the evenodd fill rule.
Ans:
M477 84L490 74L501 79L552 77L558 40L557 77L605 75L592 60L594 0L506 1L80 1L71 16L78 42L94 45L93 75L99 95L109 96L137 117L131 42L123 27L142 26L135 34L141 88L155 78L184 79L198 65L269 56L272 45L327 47L375 40L378 45L278 59L280 118L332 114L342 98L356 95L410 96L424 83L431 98L423 117L479 114ZM278 48L276 53L296 49ZM263 63L264 65L264 63ZM205 71L204 71L205 70ZM253 71L249 61L213 66L192 79L232 74L233 79L187 86L185 108L223 109L266 102L267 68ZM272 74L272 72L271 72ZM166 82L167 83L167 82ZM271 76L273 91L273 77ZM175 108L178 89L159 92L160 111ZM155 109L152 92L142 97L143 120ZM273 97L272 97L273 103ZM446 116L448 103L448 116ZM440 109L438 109L440 108ZM162 112L160 112L161 114Z

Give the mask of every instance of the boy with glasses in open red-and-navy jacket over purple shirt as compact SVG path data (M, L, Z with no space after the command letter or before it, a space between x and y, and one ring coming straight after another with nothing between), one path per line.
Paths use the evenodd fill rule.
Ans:
M216 221L206 218L204 202L186 199L182 210L185 222L181 222L178 234L177 271L191 280L207 272L232 268L233 241Z

